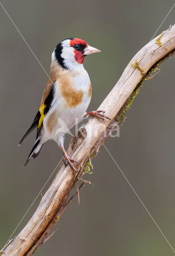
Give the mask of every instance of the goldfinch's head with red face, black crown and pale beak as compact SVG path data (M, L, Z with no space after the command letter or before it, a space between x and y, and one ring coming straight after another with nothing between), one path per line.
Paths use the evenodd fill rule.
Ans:
M75 68L79 68L80 65L83 66L83 60L86 55L95 52L101 51L89 46L82 39L67 38L57 44L52 53L52 60L57 60L62 68L74 70Z

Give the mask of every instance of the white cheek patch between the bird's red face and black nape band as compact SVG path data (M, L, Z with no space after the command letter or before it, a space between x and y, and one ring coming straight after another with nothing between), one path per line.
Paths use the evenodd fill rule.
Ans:
M70 46L70 40L64 40L62 42L63 50L61 57L63 58L64 65L70 69L74 70L75 68L79 67L80 65L76 60L75 60L75 53L74 53L74 48Z

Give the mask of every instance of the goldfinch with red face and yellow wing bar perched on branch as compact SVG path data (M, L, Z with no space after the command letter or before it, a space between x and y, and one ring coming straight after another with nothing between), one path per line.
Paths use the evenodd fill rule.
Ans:
M70 164L78 172L64 148L64 136L83 118L96 116L104 120L104 110L86 112L89 106L92 86L87 71L83 67L85 56L101 52L79 38L66 38L59 42L51 55L50 77L45 86L39 110L22 139L37 128L36 141L26 160L36 158L47 140L54 140L63 150L65 164Z

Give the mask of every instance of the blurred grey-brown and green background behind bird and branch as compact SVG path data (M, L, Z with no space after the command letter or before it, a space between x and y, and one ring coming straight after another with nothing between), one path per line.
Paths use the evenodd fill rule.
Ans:
M68 37L86 40L100 50L84 61L92 82L89 110L98 108L131 58L153 36L174 1L9 1L2 5L49 74L51 53ZM36 160L23 165L35 132L18 147L39 108L47 75L0 8L1 154L0 248L62 157L49 141ZM157 32L175 23L175 8ZM144 82L120 126L120 137L105 145L140 196L169 243L175 248L175 58ZM66 136L67 148L70 135ZM80 205L74 198L55 226L58 231L35 255L174 255L128 182L102 147L85 179ZM54 177L54 176L53 176ZM51 180L53 180L53 177ZM43 194L51 184L43 189ZM41 196L16 230L31 218Z

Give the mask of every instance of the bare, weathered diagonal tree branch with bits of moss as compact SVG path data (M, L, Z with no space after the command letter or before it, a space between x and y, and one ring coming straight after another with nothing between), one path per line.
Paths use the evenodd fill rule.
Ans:
M132 58L121 78L98 109L106 111L111 120L91 118L71 139L68 154L80 162L75 164L79 174L64 164L59 168L51 186L43 196L37 210L23 230L2 249L0 255L30 256L46 240L51 227L69 204L71 190L78 178L89 171L90 159L98 153L114 127L122 122L143 82L159 64L175 53L175 25L146 44ZM85 181L81 184L83 184ZM79 187L79 189L81 188ZM77 193L79 191L77 190Z

